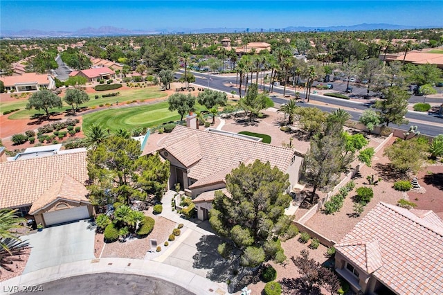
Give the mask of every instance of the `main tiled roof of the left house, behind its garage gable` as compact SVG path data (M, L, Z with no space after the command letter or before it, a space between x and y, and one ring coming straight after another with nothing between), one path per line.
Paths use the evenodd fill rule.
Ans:
M0 208L33 204L63 175L85 184L87 152L0 163Z

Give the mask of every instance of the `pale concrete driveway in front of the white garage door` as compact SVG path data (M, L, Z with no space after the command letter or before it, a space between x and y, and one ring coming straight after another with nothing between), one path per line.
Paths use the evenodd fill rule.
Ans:
M88 220L49 227L22 237L32 247L23 273L62 263L93 259L94 229Z

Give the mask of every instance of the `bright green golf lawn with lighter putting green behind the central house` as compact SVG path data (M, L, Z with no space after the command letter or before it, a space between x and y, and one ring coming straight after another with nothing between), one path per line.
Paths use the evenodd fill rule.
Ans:
M119 102L120 104L120 102ZM204 109L201 105L197 109ZM177 111L168 110L168 102L159 102L153 105L138 107L125 107L121 109L105 109L83 116L83 130L95 123L105 129L116 131L118 129L132 130L136 127L153 127L162 123L180 120Z

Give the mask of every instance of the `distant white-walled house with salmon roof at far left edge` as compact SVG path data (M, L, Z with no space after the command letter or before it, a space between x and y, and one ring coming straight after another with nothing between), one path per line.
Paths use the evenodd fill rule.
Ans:
M42 89L55 89L55 80L51 75L37 73L22 73L0 77L5 84L5 91L25 92Z

